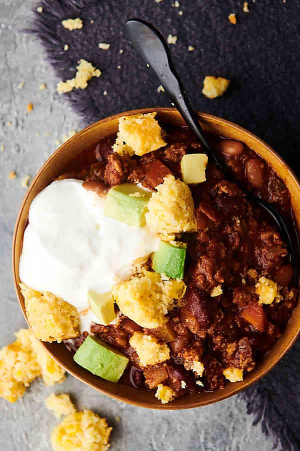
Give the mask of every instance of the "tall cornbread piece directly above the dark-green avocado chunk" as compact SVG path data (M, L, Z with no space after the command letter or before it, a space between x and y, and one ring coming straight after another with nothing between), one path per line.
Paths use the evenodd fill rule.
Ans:
M194 205L189 187L173 175L164 177L148 202L146 222L163 237L196 230ZM165 240L171 241L171 240Z

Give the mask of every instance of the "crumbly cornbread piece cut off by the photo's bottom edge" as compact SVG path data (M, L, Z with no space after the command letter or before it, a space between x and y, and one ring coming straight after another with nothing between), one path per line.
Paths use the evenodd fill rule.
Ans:
M111 429L105 418L91 410L71 413L53 429L52 448L54 451L106 451Z

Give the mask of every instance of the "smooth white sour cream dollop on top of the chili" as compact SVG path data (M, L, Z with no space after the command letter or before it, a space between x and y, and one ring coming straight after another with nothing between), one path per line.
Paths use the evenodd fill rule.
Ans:
M135 228L105 217L104 202L80 180L54 181L33 199L23 237L21 282L76 307L81 332L97 322L88 290L110 291L132 274L135 260L158 246L147 225Z

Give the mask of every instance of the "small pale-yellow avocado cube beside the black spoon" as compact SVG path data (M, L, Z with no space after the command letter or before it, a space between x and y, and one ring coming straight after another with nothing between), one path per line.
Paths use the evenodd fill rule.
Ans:
M205 181L207 161L208 158L205 153L188 153L183 155L180 168L184 183L202 183Z

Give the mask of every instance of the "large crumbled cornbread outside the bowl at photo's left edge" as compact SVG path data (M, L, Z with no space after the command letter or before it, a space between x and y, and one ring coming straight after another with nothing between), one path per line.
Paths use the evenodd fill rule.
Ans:
M46 353L28 329L15 333L16 340L0 349L0 397L16 401L30 382L41 376L47 385L62 382L64 370Z

